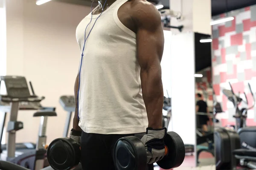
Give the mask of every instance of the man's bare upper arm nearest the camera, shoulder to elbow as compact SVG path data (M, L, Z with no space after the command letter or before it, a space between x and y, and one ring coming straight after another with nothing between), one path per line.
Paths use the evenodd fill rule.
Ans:
M137 26L137 57L141 69L155 64L160 66L164 36L159 12L151 3L138 3L133 19Z

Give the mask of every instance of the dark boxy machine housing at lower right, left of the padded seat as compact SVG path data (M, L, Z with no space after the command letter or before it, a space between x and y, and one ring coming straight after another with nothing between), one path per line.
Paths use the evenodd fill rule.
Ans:
M238 160L232 151L240 148L240 138L235 130L215 127L215 159L216 170L233 170L238 165Z

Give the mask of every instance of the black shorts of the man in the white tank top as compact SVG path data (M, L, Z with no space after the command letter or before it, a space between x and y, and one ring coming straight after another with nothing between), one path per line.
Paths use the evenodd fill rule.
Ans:
M82 132L81 136L81 164L83 170L115 170L113 149L116 141L125 136L142 138L145 133L136 134L96 134ZM150 164L145 170L154 170Z

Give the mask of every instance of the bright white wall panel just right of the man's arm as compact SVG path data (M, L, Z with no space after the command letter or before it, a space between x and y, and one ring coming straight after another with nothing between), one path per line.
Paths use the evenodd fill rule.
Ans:
M195 144L194 33L172 36L172 128L185 144Z

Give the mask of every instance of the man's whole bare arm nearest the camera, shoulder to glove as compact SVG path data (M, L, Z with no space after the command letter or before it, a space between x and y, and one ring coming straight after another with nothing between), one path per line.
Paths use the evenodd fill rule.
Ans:
M163 85L160 62L164 36L161 18L153 4L138 0L132 19L137 27L137 57L148 127L162 128Z

